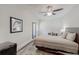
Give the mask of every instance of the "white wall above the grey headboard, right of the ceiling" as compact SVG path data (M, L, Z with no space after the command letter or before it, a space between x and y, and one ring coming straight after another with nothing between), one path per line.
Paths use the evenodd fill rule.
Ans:
M79 4L75 5L72 10L63 18L63 26L79 27Z

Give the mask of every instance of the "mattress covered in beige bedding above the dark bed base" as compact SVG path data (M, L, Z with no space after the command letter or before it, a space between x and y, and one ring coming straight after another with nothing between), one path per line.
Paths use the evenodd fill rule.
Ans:
M78 53L78 44L76 42L63 39L59 36L39 36L35 38L34 43L40 47Z

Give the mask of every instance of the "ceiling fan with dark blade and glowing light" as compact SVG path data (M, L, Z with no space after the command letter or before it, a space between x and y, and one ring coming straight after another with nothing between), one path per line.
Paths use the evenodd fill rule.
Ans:
M56 15L56 12L63 10L63 8L53 9L53 6L47 6L45 12L41 12L44 16Z

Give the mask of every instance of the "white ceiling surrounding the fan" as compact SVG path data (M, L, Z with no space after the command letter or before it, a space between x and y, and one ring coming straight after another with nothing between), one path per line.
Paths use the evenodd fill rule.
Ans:
M54 9L63 8L62 11L56 12L56 15L44 16L41 11L45 11L47 6L53 6ZM33 5L35 7L34 16L36 19L49 20L49 19L59 19L65 16L75 5L74 4L38 4Z

